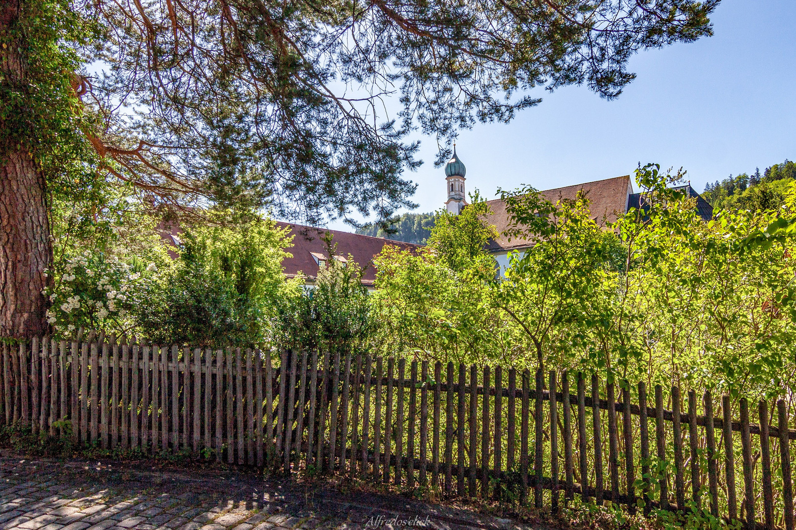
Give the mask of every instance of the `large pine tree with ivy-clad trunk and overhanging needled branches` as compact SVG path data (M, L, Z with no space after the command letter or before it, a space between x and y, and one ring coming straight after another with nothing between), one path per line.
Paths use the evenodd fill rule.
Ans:
M718 3L3 0L0 335L47 331L49 192L114 176L183 209L388 219L414 207L413 130L439 163L534 88L614 98L635 52L710 35Z

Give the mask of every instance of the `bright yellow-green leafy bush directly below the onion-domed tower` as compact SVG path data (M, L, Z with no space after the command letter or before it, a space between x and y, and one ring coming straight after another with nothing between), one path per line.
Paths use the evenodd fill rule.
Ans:
M440 361L506 360L516 334L490 302L494 257L486 242L496 236L485 221L489 208L478 194L459 215L439 211L428 246L384 246L374 263L377 348Z

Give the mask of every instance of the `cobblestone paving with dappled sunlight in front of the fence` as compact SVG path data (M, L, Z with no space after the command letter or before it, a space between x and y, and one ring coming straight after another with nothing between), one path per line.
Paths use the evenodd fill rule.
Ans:
M0 458L0 530L531 530L404 497L279 478Z

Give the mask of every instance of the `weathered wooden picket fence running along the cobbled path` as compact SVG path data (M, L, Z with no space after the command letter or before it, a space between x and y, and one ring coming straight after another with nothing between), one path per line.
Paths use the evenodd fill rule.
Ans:
M532 388L528 370L500 366L412 361L407 378L403 358L282 352L275 362L258 350L33 339L3 346L0 419L109 450L189 451L538 509L579 497L794 530L796 430L782 400L755 411L742 398L736 421L728 396L714 405L709 392L698 400L656 386L650 406L643 382L592 375L587 395L581 373L545 381L537 372Z

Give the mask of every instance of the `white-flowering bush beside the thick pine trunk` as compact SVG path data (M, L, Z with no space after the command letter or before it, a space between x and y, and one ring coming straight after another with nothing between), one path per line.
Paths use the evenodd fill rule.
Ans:
M104 253L77 254L55 274L54 286L45 289L51 302L48 322L62 336L74 335L80 327L126 331L128 300L143 277L155 272L154 263L131 266Z

